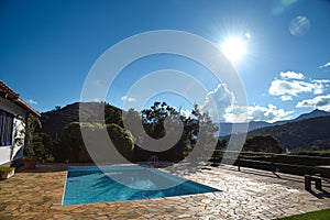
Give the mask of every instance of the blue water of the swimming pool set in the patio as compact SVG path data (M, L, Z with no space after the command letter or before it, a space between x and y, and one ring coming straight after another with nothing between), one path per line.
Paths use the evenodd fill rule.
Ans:
M69 167L63 205L140 200L219 191L154 168L110 166L101 169L97 166ZM124 185L113 179L120 179ZM168 184L173 187L162 187Z

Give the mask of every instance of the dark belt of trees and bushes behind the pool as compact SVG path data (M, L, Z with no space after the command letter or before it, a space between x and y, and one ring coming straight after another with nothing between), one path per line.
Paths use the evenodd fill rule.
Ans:
M40 130L35 145L41 150L40 154L44 161L54 158L57 162L91 162L80 130L87 130L87 133L92 134L107 129L118 152L131 162L146 161L152 155L158 156L160 160L180 161L195 147L198 139L204 141L202 143L199 141L199 144L205 150L210 148L211 143L217 142L213 134L218 128L213 125L207 113L199 112L198 106L195 106L191 117L186 118L165 102L155 102L150 109L141 112L131 109L124 114L120 109L105 102L80 105L86 107L82 112L84 122L78 122L77 109L79 106L77 103L56 108L52 112L43 114L44 128ZM106 128L98 117L102 110L105 110ZM123 116L128 123L125 127L123 125ZM136 127L141 121L146 134L153 139L175 135L180 124L184 125L183 135L167 151L146 151L140 147L146 140L145 134L130 131L130 128ZM170 124L166 131L164 124L165 127ZM63 128L62 132L58 133L61 128ZM201 136L202 139L200 139Z

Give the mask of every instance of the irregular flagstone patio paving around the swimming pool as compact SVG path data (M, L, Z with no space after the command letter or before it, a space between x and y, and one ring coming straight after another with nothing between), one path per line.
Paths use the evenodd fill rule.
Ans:
M329 185L308 193L304 178L232 166L173 170L221 191L160 199L62 206L66 164L37 165L0 182L0 219L276 219L330 208ZM169 169L164 168L165 170Z

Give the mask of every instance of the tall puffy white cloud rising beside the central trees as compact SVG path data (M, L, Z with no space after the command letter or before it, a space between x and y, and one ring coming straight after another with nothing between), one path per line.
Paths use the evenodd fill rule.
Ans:
M215 123L224 121L224 114L234 108L235 97L226 84L207 94L205 103L200 107L201 112L208 112Z

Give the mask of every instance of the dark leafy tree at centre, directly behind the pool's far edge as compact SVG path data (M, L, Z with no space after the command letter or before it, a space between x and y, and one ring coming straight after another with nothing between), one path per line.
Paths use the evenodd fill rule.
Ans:
M186 135L184 135L185 132L176 143L168 143L169 145L173 144L168 150L156 152L143 148L150 139L174 138L172 140L176 140L178 136L178 131L185 118L179 116L179 112L166 102L156 101L150 109L144 109L141 113L130 109L124 114L124 118L125 128L131 128L132 135L136 140L133 151L135 161L145 161L153 155L164 161L180 161L187 154L187 151L189 151ZM139 128L139 124L142 124L142 128ZM167 130L164 127L166 124ZM162 143L164 144L165 142Z

